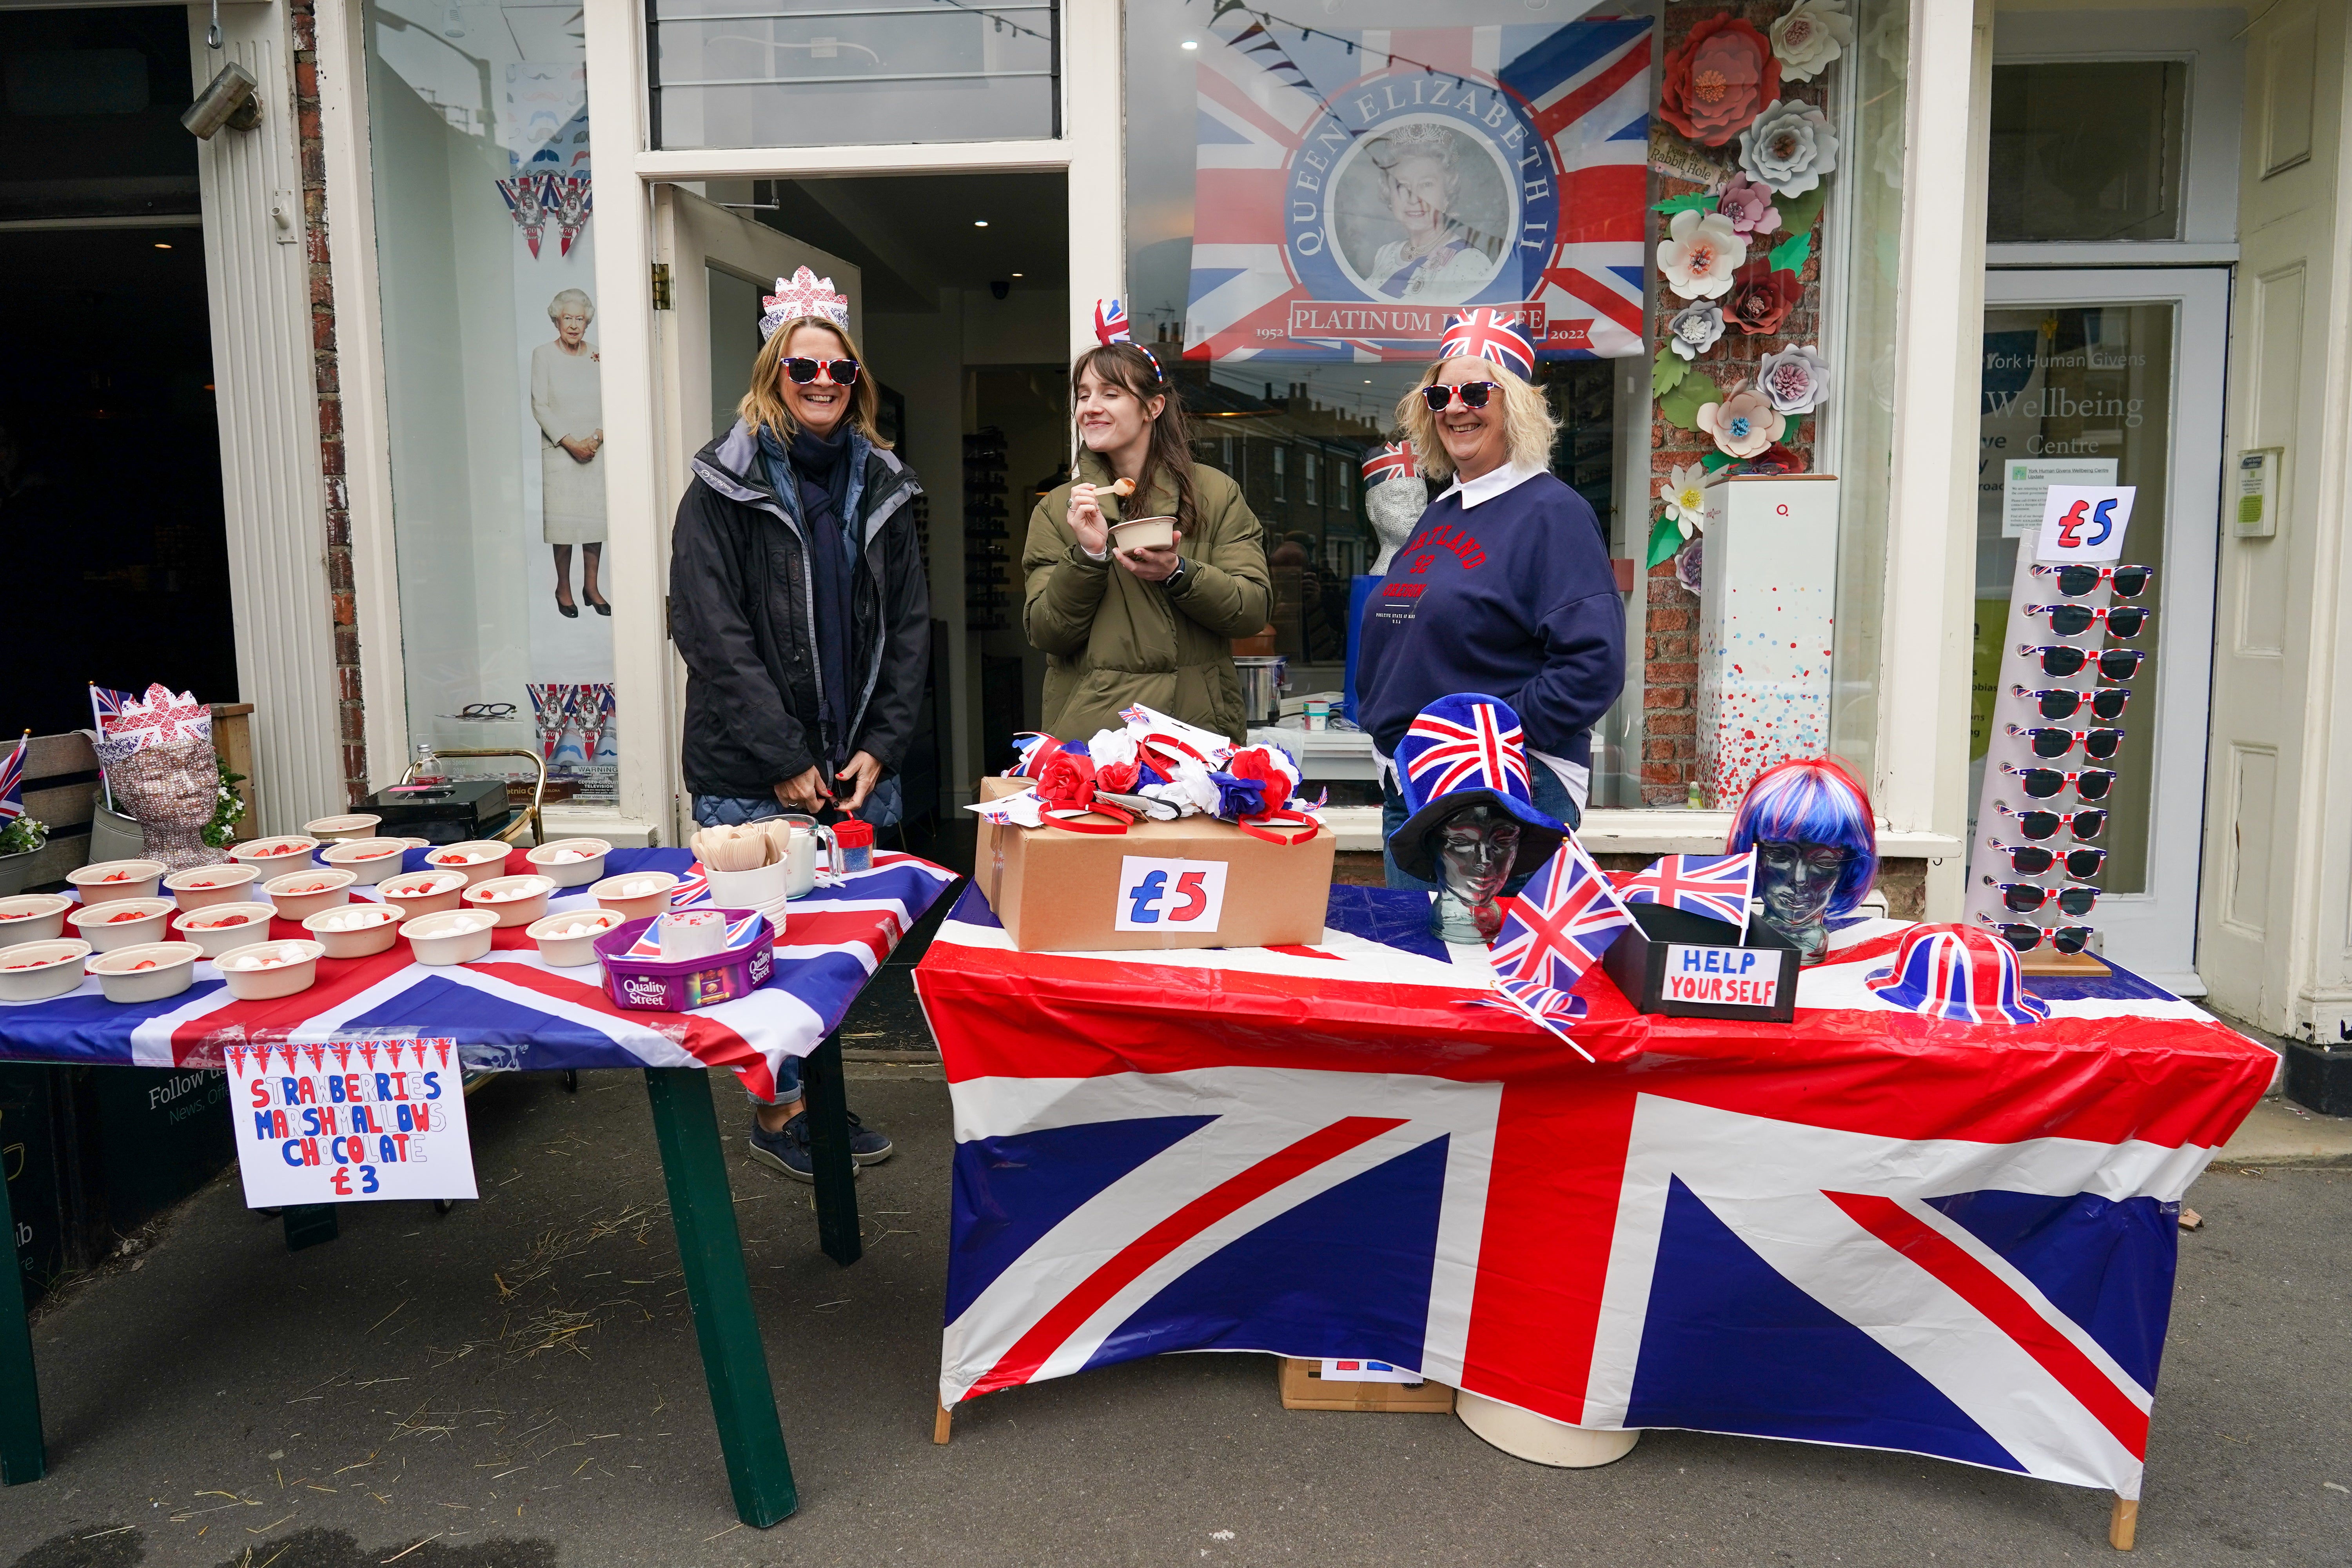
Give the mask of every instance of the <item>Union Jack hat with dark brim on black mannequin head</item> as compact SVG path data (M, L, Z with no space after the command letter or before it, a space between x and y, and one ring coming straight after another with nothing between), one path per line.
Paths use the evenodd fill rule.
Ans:
M1423 708L1397 745L1397 792L1406 813L1388 837L1397 865L1435 882L1437 827L1463 806L1501 806L1519 818L1519 858L1510 875L1543 867L1569 830L1536 809L1526 769L1526 736L1503 698L1458 691Z

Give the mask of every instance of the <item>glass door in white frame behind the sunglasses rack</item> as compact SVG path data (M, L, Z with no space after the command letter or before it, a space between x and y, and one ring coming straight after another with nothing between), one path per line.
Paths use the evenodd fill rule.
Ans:
M1985 275L1969 799L1978 799L2002 644L2011 630L2020 543L2020 508L2011 505L2016 487L2136 484L2124 564L2154 567L2157 576L2129 604L2147 604L2157 614L2138 637L2105 642L2110 649L2147 651L2114 719L2124 738L2112 759L2084 762L2077 748L2051 766L2117 771L2110 799L2096 802L2110 809L2098 839L2107 860L2096 879L2105 893L2086 917L2100 933L2098 952L2192 997L2206 990L2197 978L2197 877L2227 308L2230 275L2223 268ZM2060 595L2056 585L2046 592L2037 588L2034 602L2060 602ZM2067 729L2105 724L2089 710L2072 719L2027 722ZM2016 804L2044 802L2018 797ZM2070 809L2072 792L2049 804ZM1969 827L1976 842L1976 823ZM2063 835L2049 842L2072 844Z

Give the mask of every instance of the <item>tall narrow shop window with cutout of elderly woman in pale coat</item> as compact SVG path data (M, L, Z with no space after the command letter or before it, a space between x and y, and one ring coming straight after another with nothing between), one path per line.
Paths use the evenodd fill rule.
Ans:
M581 35L534 5L362 16L409 733L534 748L553 795L609 802Z

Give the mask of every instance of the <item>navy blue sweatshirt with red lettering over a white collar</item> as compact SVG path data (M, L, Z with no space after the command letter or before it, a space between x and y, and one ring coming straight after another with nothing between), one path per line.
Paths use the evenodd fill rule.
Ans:
M1364 607L1357 722L1383 757L1437 698L1484 691L1519 712L1529 750L1590 766L1623 684L1609 550L1592 505L1550 473L1470 508L1458 489L1430 503Z

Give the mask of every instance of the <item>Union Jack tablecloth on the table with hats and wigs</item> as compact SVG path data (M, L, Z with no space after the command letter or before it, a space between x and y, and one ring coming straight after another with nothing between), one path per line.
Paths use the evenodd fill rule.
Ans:
M2270 1051L2117 971L1959 1025L1576 1039L1482 950L1331 889L1308 947L1014 952L967 891L915 971L955 1095L941 1399L1171 1349L1376 1356L1585 1427L1893 1448L2138 1497L2180 1194Z

